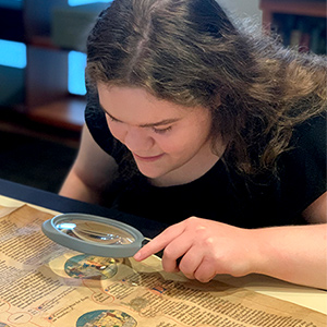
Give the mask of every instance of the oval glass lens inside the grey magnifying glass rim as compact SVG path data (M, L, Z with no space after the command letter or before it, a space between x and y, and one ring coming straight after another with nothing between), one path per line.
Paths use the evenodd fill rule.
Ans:
M106 245L124 245L135 241L134 237L124 230L92 220L62 220L56 228L70 237Z

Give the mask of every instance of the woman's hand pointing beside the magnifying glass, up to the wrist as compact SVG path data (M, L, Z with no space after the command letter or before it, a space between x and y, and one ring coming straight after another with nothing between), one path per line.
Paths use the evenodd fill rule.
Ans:
M143 261L162 249L166 271L181 270L187 278L202 282L217 274L239 277L254 272L257 253L251 230L196 217L169 227L134 258Z

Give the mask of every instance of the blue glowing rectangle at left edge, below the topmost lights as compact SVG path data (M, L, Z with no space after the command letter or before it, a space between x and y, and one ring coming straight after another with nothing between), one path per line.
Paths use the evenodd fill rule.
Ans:
M22 43L0 39L0 64L24 69L27 63L26 46Z

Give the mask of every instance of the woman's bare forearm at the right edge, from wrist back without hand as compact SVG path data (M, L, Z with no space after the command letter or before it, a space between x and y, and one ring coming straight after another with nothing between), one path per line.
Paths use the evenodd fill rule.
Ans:
M327 289L327 192L303 216L313 225L254 231L266 257L258 272Z

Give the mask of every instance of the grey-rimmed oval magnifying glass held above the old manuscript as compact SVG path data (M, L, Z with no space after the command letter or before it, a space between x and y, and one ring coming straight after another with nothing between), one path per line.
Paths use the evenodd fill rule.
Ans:
M85 214L58 215L41 226L56 243L104 257L130 257L141 247L143 234L126 223Z

